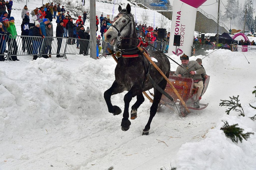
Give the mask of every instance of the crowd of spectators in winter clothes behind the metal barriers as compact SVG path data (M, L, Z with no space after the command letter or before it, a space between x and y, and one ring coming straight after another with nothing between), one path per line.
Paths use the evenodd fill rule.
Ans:
M3 5L5 4L5 6ZM14 17L9 17L11 15L12 10L12 0L9 2L0 1L0 45L2 46L0 50L0 61L4 61L4 52L6 48L6 44L9 45L12 39L13 45L11 49L11 58L13 61L19 61L17 59L17 42L15 40L17 35L16 26L14 22ZM64 6L60 7L60 3L53 4L46 3L41 7L36 7L34 10L29 12L27 5L25 5L21 12L22 24L21 24L21 35L22 36L22 51L33 55L33 59L36 60L39 56L39 49L42 49L42 57L49 58L52 57L52 41L53 41L53 19L56 19L57 27L56 27L56 37L67 37L67 44L73 45L76 44L76 48L80 49L80 54L88 55L89 44L87 43L79 43L79 39L89 40L90 29L84 28L84 24L87 18L87 13L84 12L83 16L79 16L76 22L73 22L73 18L69 15L69 11L66 12ZM2 8L1 8L2 7ZM7 10L7 12L6 12ZM98 19L96 16L96 32L99 30L101 35L96 35L97 40L104 40L103 34L109 29L112 21L109 18L103 17L103 14ZM100 27L98 27L100 25ZM2 29L2 31L1 31ZM145 39L146 41L159 41L158 39L158 28L153 29L151 26L146 26L146 24L136 24L137 35L140 38ZM11 36L10 36L11 35ZM36 38L34 40L30 40L26 36L37 36L41 37L41 39ZM166 34L166 38L162 41L169 41L170 32ZM43 38L46 37L44 43L42 43ZM75 41L76 40L76 41ZM59 55L60 49L62 45L62 38L57 38L57 51L58 54L56 57L62 57ZM102 49L100 43L97 44L97 50ZM97 51L97 58L98 58ZM106 51L106 53L108 53Z

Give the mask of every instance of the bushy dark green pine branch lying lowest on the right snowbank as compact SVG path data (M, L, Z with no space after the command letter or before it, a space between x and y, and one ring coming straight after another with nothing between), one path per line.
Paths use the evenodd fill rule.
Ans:
M224 122L224 121L223 121ZM250 135L254 135L253 132L243 133L243 128L237 127L238 124L229 125L227 121L221 127L221 130L225 133L226 137L230 138L232 142L238 143L238 140L242 143L243 139L247 140Z

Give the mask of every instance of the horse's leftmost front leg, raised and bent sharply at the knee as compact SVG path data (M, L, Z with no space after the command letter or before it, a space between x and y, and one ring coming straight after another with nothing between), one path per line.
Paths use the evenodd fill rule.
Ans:
M113 113L113 115L118 115L122 113L122 110L118 106L113 106L111 103L111 96L117 93L121 93L124 90L122 90L121 87L118 86L118 84L114 81L112 86L104 92L104 99L106 101L106 105L108 106L108 110L110 113Z

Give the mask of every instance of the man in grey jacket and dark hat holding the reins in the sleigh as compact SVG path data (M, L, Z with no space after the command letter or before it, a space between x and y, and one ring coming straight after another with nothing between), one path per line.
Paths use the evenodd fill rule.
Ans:
M198 64L197 61L189 61L187 55L183 54L181 57L181 64L177 67L175 75L179 77L192 78L194 80L194 87L197 88L196 102L194 102L195 108L200 108L199 101L201 93L203 91L203 81L201 74L205 73L205 70L202 66Z

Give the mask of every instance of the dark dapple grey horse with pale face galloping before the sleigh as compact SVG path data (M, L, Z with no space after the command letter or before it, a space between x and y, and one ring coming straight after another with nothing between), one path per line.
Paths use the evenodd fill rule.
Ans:
M119 53L121 52L122 56L118 58L118 63L115 68L115 81L110 89L104 92L104 99L109 112L117 115L122 111L118 106L112 105L111 96L122 93L123 91L128 91L124 96L125 107L121 123L122 130L126 131L131 125L129 121L129 104L132 97L137 96L136 103L131 107L131 119L135 119L137 117L137 109L144 102L142 92L153 88L146 74L149 73L155 83L163 90L167 82L137 48L137 46L140 45L140 41L138 41L139 39L137 38L130 4L127 4L126 9L122 9L119 5L118 10L119 14L114 18L108 31L104 33L104 37L105 42L110 42L113 46L117 44L118 40L120 41L120 44L117 44L116 50L118 50ZM170 62L168 58L160 51L149 51L148 53L150 57L154 58L154 62L161 71L169 77ZM154 100L150 108L150 118L143 129L142 135L148 135L149 133L150 124L156 114L161 96L162 93L154 88Z

